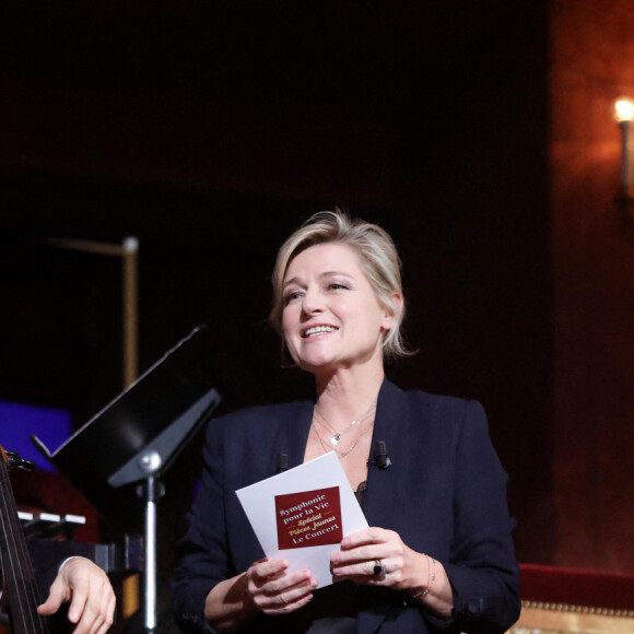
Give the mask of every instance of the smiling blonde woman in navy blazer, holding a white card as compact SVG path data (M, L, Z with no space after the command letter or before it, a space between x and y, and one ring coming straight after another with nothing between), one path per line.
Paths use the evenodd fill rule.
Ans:
M506 473L474 401L403 391L384 363L407 354L389 235L321 212L284 243L271 322L315 377L313 401L211 421L202 483L173 582L188 631L274 634L505 632L519 615ZM373 463L385 442L391 466ZM334 451L369 528L344 536L334 584L268 560L235 491Z

